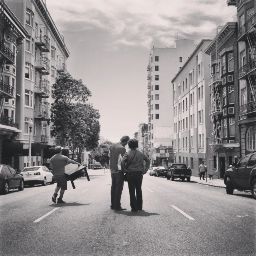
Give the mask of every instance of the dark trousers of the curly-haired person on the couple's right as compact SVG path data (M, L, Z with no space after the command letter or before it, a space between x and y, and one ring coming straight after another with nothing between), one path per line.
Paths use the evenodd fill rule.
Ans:
M128 188L130 193L130 206L132 210L142 210L142 172L129 172L127 176ZM136 196L135 196L136 190Z

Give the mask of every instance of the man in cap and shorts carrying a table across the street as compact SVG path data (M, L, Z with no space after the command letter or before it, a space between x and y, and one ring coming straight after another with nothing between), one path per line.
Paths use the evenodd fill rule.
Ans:
M56 154L50 160L50 167L53 169L53 176L55 181L57 182L57 186L55 188L54 194L52 196L52 202L56 203L56 198L58 196L58 192L60 190L60 197L57 200L57 204L64 204L62 200L65 190L67 190L67 179L65 177L65 165L66 163L78 164L78 162L69 159L67 156L63 156L61 154L61 146L55 147Z

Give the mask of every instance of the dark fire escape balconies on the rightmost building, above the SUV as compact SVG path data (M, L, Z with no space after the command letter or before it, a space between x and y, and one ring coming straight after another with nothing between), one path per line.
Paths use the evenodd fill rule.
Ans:
M238 79L247 80L250 90L248 99L241 99L239 114L240 116L252 116L256 112L256 14L240 27L237 40L245 42L248 46L248 52L245 53L244 59L241 57ZM247 61L245 61L246 58Z

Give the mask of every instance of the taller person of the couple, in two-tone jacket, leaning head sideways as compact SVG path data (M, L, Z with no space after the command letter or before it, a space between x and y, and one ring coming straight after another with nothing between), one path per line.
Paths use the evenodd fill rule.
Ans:
M120 211L126 210L126 208L121 207L121 196L124 188L124 172L122 172L121 168L121 160L124 156L126 149L125 146L129 140L129 136L122 136L120 142L113 143L110 146L110 150L108 152L109 156L109 169L111 173L111 205L110 208L112 210Z

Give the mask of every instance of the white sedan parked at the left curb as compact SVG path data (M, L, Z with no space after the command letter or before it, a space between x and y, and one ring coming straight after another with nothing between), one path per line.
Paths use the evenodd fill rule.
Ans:
M52 172L46 166L26 167L20 173L24 178L24 185L34 186L35 184L54 184Z

